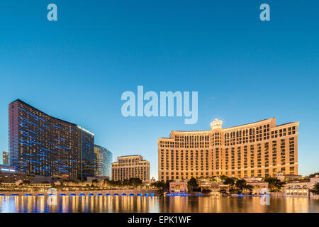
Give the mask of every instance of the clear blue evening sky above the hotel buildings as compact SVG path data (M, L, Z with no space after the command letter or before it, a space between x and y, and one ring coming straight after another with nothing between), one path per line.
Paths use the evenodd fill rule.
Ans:
M55 3L58 21L47 21ZM271 21L259 20L259 6ZM157 177L157 138L277 118L300 121L301 175L319 171L318 1L1 1L0 150L22 99L95 133L113 157L141 154ZM124 118L121 94L197 91L198 123Z

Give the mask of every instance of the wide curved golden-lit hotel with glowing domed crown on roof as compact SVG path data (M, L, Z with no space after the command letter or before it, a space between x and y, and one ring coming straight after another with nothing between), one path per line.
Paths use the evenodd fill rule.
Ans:
M172 131L158 139L159 180L191 177L274 177L298 174L298 124L269 118L211 131Z

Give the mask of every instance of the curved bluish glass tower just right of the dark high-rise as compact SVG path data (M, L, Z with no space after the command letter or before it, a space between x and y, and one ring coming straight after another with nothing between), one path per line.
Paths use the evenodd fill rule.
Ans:
M94 153L96 155L96 176L111 177L113 160L111 151L99 145L94 145Z

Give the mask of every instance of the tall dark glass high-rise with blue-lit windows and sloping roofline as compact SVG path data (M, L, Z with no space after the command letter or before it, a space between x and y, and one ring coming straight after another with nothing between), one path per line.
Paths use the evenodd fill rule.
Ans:
M29 174L73 179L94 175L94 134L19 99L9 104L9 153L10 164Z

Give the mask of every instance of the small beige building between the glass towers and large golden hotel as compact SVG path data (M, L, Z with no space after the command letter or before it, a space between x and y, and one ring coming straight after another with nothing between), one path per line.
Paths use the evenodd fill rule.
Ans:
M127 155L118 157L112 163L112 179L121 180L140 178L143 183L150 183L150 162L143 160L141 155Z

